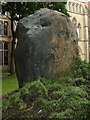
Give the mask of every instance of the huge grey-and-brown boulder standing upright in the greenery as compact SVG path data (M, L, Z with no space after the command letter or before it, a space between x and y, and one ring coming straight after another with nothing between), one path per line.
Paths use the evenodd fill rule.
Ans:
M57 11L41 9L19 21L15 50L19 86L38 77L55 79L77 55L77 34L70 19Z

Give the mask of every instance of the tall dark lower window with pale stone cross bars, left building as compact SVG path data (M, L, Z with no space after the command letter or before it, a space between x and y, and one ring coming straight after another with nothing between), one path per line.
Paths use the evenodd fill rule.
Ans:
M8 65L8 42L0 41L0 65Z

